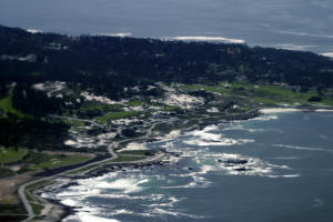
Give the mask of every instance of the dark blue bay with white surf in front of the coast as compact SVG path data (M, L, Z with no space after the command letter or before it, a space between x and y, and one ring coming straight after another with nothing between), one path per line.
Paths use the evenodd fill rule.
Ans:
M150 143L165 167L80 180L49 196L65 221L333 221L333 113L289 112Z

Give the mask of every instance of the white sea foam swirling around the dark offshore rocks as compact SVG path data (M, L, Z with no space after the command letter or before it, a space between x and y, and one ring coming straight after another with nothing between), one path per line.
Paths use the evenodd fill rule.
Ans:
M271 164L259 158L246 157L235 153L214 153L209 149L195 150L184 148L183 158L189 158L195 162L194 169L190 173L170 174L175 178L189 178L190 182L180 185L163 186L163 189L189 189L189 188L206 188L211 185L211 181L206 174L230 174L230 175L248 175L248 176L285 176L278 170L291 170L287 165Z

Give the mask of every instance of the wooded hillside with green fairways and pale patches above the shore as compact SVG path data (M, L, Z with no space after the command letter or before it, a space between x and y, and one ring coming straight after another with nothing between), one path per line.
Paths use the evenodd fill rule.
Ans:
M7 27L0 80L0 144L34 149L68 150L67 131L92 120L109 125L188 107L333 104L333 61L310 52Z

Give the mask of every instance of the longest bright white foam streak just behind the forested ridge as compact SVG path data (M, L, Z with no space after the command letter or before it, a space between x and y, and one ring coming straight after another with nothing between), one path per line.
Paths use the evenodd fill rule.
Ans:
M243 39L231 39L225 37L206 37L206 36L193 36L193 37L165 37L164 40L179 40L179 41L216 41L226 43L245 43Z

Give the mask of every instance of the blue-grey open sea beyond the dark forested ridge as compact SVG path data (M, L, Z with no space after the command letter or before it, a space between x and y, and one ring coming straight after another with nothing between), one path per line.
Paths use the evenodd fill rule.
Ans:
M333 52L332 0L1 0L0 23L69 34L222 37Z

